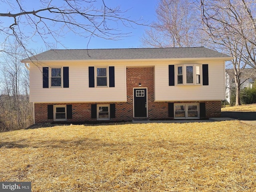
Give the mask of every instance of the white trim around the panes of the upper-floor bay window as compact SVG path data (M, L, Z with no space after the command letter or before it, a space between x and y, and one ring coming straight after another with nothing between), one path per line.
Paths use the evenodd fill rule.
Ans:
M193 83L186 83L186 67L193 66ZM196 66L200 67L200 83L196 83ZM182 67L182 82L183 84L178 84L178 67ZM177 86L184 85L202 85L202 65L201 64L179 64L175 66L175 84Z

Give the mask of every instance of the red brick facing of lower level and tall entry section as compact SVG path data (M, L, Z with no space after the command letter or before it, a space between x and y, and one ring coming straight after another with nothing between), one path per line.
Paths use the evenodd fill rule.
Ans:
M133 88L147 88L148 119L172 119L168 117L168 102L154 102L154 67L131 67L126 69L127 102L115 103L116 117L111 121L129 121L133 119ZM200 103L205 102L206 117L220 117L220 101L186 101L173 103ZM91 104L97 103L35 103L35 122L53 122L47 119L47 106L72 104L72 119L70 122L96 121L91 118ZM99 104L99 103L98 103ZM100 103L111 104L111 103Z

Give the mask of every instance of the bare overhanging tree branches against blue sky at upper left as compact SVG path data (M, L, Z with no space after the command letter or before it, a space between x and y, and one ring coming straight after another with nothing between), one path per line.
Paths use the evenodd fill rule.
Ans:
M27 42L40 37L51 48L61 44L59 37L70 31L89 39L98 36L115 40L128 35L118 30L118 25L131 27L139 22L124 17L126 11L119 6L108 7L104 0L36 0L33 3L33 8L26 8L29 1L0 0L0 6L7 7L0 18L12 18L0 21L0 34L5 36L0 52L6 52L10 38L26 48Z

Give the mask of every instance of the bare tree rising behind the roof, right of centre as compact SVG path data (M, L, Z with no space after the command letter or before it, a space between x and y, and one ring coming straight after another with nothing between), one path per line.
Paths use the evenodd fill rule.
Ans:
M190 0L159 0L156 21L142 37L146 47L200 45L200 11Z

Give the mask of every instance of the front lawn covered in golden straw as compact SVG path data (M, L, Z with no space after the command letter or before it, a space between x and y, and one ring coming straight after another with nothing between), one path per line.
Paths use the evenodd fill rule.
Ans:
M256 127L240 121L70 125L0 133L0 181L32 191L256 189Z

